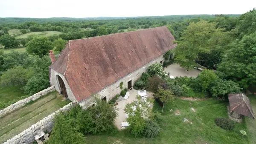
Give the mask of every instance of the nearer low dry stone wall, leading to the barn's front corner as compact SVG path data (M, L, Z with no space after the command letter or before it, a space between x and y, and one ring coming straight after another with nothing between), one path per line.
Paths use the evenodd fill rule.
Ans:
M20 132L20 134L15 135L13 138L9 139L8 141L4 142L3 144L30 144L32 141L35 140L35 135L38 135L40 132L44 131L51 131L53 127L53 118L58 112L66 111L73 106L73 103L70 102L66 106L58 109L56 112L48 115L47 117L43 118L41 121L38 121L36 124L33 124L28 129Z

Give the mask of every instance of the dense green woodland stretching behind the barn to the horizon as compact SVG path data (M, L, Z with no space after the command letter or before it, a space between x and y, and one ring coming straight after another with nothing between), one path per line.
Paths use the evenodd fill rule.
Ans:
M49 50L61 52L67 40L167 26L178 43L175 62L186 69L195 61L218 70L242 88L256 82L256 10L241 15L175 15L99 18L0 18L0 84L17 86L32 95L49 86ZM19 34L9 35L18 29ZM19 35L58 31L50 36ZM17 52L15 48L26 47ZM5 49L13 49L9 53ZM17 101L3 101L1 108ZM1 101L2 102L2 101Z

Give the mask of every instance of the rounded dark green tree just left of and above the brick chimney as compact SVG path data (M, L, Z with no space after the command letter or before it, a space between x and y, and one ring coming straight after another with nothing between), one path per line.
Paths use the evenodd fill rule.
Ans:
M32 55L43 57L52 49L52 43L47 37L33 37L26 45L26 50Z

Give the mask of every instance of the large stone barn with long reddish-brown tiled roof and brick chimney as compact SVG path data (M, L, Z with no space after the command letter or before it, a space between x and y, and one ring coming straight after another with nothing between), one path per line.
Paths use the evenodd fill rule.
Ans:
M163 63L173 40L166 26L69 40L57 60L50 52L50 84L84 108L93 94L109 101L121 92L121 82L130 89L148 66Z

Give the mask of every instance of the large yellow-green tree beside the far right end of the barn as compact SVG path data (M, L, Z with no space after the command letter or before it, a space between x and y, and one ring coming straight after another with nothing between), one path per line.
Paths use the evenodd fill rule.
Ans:
M215 23L208 23L205 20L201 20L198 23L190 23L182 33L182 37L175 49L176 62L189 70L190 67L195 65L194 60L198 58L199 53L209 52L213 49L215 47L212 45L215 40L214 35L215 33L221 33L222 30L215 27Z

